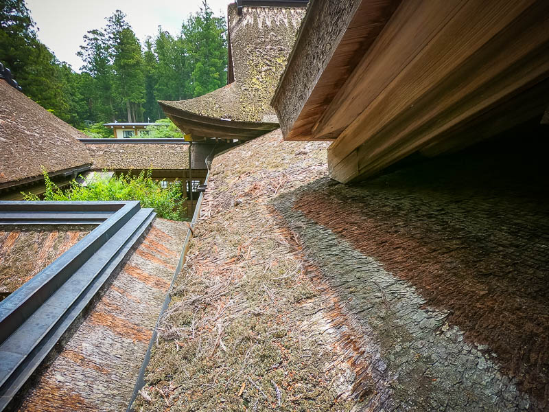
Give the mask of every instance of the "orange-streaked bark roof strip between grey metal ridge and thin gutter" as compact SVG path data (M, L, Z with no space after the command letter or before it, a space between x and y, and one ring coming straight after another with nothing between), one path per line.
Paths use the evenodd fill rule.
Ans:
M21 410L127 409L187 230L186 222L154 219L82 325L21 393Z

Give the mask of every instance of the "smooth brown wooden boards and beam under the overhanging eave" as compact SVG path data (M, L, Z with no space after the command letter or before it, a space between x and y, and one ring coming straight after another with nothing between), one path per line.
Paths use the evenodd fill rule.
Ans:
M527 108L507 103L522 93L537 96L548 77L549 2L404 1L314 134L337 136L330 176L357 181L441 137L468 139L452 130L504 115L498 107L515 111L509 119L516 122L543 113L547 102L539 96Z

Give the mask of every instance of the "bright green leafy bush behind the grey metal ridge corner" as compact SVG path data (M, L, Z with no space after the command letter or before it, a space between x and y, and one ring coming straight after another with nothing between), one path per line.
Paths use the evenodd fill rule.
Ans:
M151 178L152 170L139 176L114 174L110 179L94 181L82 186L71 181L67 190L61 190L44 172L45 201L140 201L141 207L152 207L160 218L185 220L181 183L174 182L162 189L160 182ZM35 194L23 193L25 201L39 201Z

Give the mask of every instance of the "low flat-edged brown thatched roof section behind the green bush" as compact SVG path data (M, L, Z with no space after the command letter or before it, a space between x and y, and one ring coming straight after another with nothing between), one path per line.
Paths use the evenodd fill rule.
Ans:
M94 170L188 169L187 144L86 144Z

